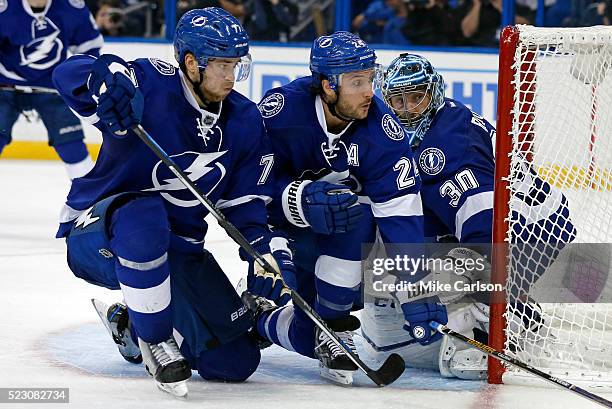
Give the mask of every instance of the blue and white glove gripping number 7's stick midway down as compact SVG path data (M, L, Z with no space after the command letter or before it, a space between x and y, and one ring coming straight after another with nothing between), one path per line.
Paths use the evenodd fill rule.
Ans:
M247 278L249 292L272 300L277 305L285 305L291 300L291 294L286 287L295 289L297 286L293 255L287 244L287 239L274 237L270 240L271 253L263 255L276 270L275 273L266 271L255 261Z

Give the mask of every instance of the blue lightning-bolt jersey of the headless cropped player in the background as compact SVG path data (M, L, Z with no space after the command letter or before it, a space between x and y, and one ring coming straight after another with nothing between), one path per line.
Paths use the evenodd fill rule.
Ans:
M98 55L102 35L83 0L0 0L0 84L52 88L51 73L72 54Z

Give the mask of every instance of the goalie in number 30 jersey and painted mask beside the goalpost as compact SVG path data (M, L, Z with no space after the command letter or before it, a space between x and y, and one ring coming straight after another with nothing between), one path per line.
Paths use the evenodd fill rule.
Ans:
M489 257L495 128L462 103L445 98L442 76L418 55L402 54L393 60L385 73L383 96L404 125L414 148L422 177L425 236L432 242L464 244L457 244L446 257L473 260ZM523 169L515 180L513 183L523 187L517 185L514 190L524 194L513 198L511 208L515 210L511 218L523 218L521 224L526 226L516 232L516 241L534 247L530 241L537 237L537 241L550 245L550 251L544 249L539 254L540 271L531 272L538 277L558 254L556 244L571 242L576 230L569 217L567 199L533 169ZM474 269L463 273L461 279L488 282L488 273L486 269ZM384 357L391 352L400 353L411 366L439 368L442 375L449 377L475 379L486 375L486 355L474 349L457 351L448 337L427 347L416 345L401 331L403 318L395 311L393 299L374 292L372 296L373 302L366 303L362 314L362 332L373 354ZM461 292L439 296L450 304L449 327L470 336L473 331L473 337L486 342L489 311L486 303L478 302L483 300L474 300L469 293ZM522 299L521 294L514 296ZM529 317L529 322L516 325L529 329L541 324L536 304L521 303L519 309ZM511 317L509 320L512 321Z

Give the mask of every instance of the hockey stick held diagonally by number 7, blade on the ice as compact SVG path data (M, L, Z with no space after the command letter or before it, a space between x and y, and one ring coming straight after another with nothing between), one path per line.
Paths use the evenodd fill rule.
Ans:
M242 249L244 249L253 259L259 263L264 269L271 273L275 273L274 268L262 257L261 254L255 250L255 248L248 242L248 240L240 233L240 231L227 219L225 216L215 207L215 205L206 197L200 189L185 175L185 173L176 165L176 163L168 156L166 152L153 140L151 135L144 130L141 125L137 125L131 128L136 135L155 153L155 155L170 169L172 173L181 181L183 185L202 203L202 205L213 215L219 225L227 232L227 234L234 240ZM323 321L323 319L317 314L310 305L295 291L289 289L293 304L300 308L304 313L315 323L317 327L321 329L330 337L333 342L347 354L349 359L361 369L375 384L378 386L386 386L394 382L401 376L405 369L405 363L402 357L398 354L391 354L382 366L373 370L369 368L359 356L355 354L344 342L329 328L329 326Z

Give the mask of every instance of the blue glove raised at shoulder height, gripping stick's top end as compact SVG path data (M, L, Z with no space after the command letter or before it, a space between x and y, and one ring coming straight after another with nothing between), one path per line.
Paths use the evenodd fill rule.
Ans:
M87 87L98 104L98 118L111 132L125 135L142 120L144 98L121 58L101 55L92 65Z

